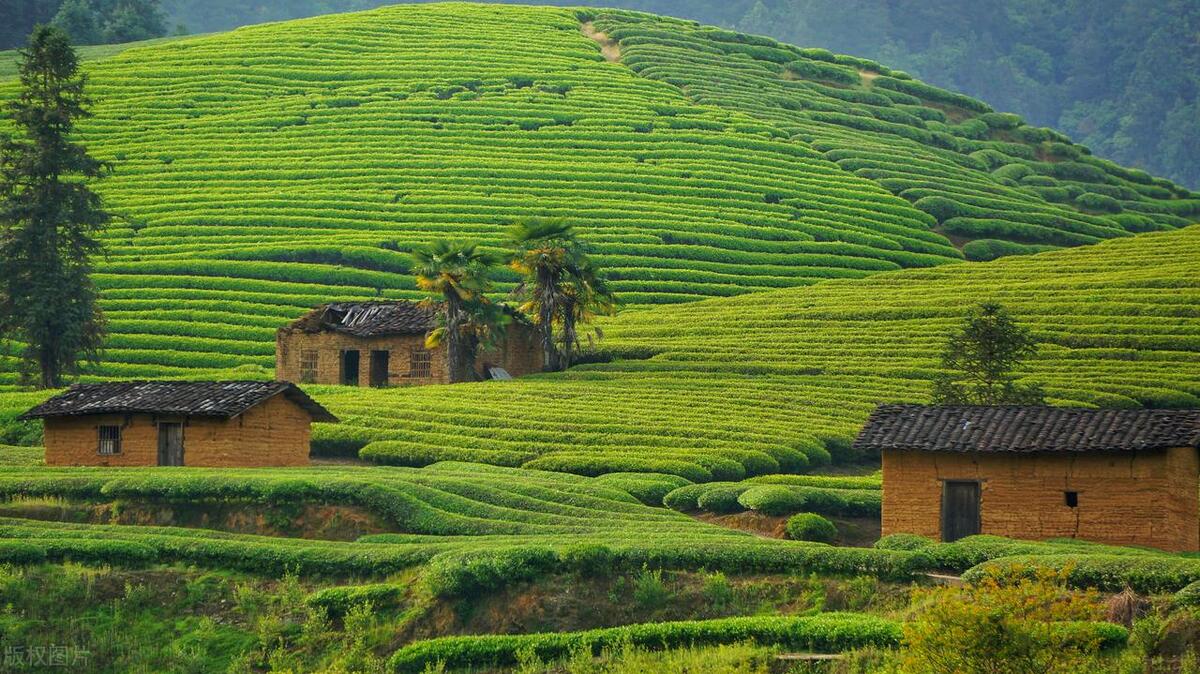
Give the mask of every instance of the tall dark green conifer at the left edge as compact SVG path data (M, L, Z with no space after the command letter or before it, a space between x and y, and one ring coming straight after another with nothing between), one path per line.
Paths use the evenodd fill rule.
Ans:
M70 140L89 115L84 83L67 36L40 26L7 104L17 134L0 137L0 333L24 344L42 387L96 361L104 332L90 273L109 216L88 182L106 167Z

